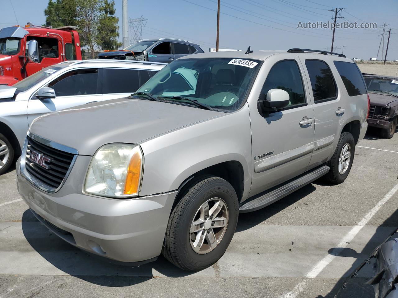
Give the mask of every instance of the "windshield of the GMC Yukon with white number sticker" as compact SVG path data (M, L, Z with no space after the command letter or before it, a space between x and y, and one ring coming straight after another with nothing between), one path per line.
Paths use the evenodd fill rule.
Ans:
M237 110L248 93L259 62L231 58L176 60L165 66L137 92L163 101L197 101L220 111ZM185 97L173 99L173 97Z

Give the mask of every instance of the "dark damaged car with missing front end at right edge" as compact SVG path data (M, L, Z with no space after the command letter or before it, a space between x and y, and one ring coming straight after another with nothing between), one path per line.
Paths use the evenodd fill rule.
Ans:
M368 125L379 128L386 139L392 138L398 122L398 77L363 74L369 92Z

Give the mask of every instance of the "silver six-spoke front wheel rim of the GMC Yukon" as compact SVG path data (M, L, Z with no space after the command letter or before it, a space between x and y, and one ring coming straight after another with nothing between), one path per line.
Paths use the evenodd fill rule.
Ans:
M223 199L213 197L196 211L189 229L194 252L209 253L222 240L228 226L228 207Z

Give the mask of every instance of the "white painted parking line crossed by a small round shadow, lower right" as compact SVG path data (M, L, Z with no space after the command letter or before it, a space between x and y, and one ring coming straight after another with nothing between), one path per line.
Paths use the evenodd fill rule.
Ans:
M326 255L322 260L320 260L308 273L306 274L307 280L304 280L295 286L295 288L286 294L284 294L283 298L296 298L301 292L304 291L305 287L308 285L309 280L314 277L317 277L319 273L327 266L331 261L333 261L339 253L347 247L347 242L351 242L353 238L358 234L358 232L365 226L369 220L380 210L380 208L397 192L398 184L392 188L376 205L369 211L367 215L361 219L361 221L354 226L340 241L337 245L337 248L332 250L331 254Z

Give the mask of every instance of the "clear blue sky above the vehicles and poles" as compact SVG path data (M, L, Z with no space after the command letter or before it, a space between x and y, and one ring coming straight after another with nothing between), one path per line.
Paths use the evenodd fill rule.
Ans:
M27 22L43 24L48 0L0 0L0 27ZM12 9L14 6L15 14ZM115 0L121 40L121 0ZM174 37L195 42L208 51L215 47L217 0L129 0L129 18L148 19L142 39ZM398 59L397 0L221 0L220 47L246 50L312 48L330 50L330 29L297 29L299 21L331 21L333 8L345 8L340 21L377 23L377 29L336 29L334 52L349 58L376 57L379 29L392 28L388 60ZM131 35L132 33L130 33ZM132 35L130 36L132 37ZM387 38L385 38L384 48ZM344 48L343 48L344 46ZM337 48L336 48L337 47ZM384 50L385 51L385 50ZM379 58L381 56L381 48Z

